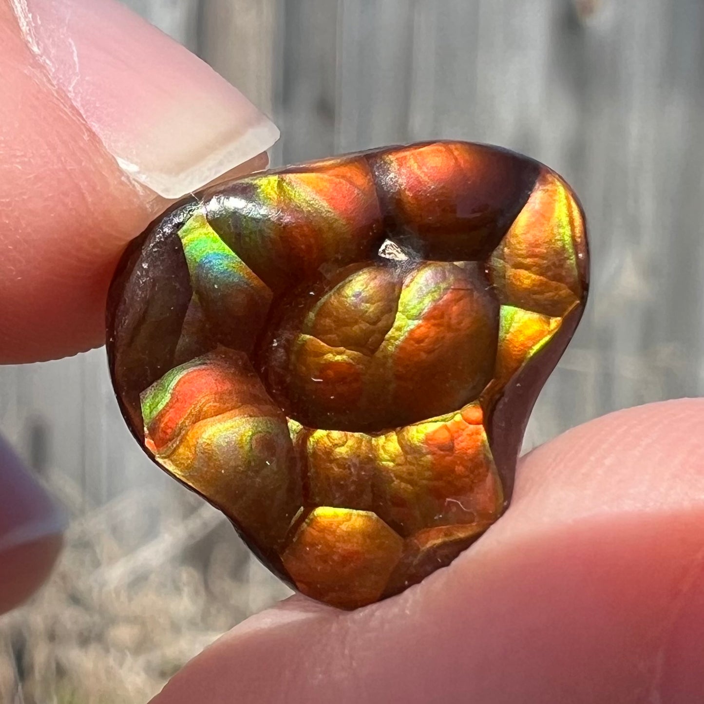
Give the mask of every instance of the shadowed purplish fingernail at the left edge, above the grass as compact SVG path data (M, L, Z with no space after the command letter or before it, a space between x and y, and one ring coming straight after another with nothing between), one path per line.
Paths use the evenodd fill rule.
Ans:
M64 511L0 437L0 561L14 548L61 534L66 524Z

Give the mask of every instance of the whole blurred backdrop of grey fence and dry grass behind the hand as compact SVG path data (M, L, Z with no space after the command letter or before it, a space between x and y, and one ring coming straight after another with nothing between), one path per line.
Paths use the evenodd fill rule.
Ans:
M704 393L700 0L125 1L273 116L274 165L458 138L567 178L591 298L526 448ZM0 620L1 702L142 703L289 593L135 444L103 349L0 368L0 428L72 518L50 584Z

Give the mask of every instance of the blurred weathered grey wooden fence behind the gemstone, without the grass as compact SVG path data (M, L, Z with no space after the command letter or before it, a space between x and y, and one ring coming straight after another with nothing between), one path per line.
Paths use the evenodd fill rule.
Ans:
M275 163L433 137L490 142L581 196L591 301L527 444L704 391L700 0L130 0L282 128ZM165 478L104 351L0 369L0 428L88 506Z

